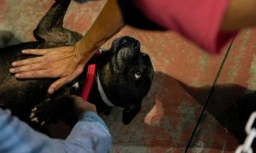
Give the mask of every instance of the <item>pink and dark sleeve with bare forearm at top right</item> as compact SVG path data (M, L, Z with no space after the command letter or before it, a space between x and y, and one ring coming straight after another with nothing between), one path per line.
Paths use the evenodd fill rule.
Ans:
M119 3L125 24L142 27L145 21L136 18L144 15L162 29L177 31L212 54L219 53L237 31L256 26L255 0L119 0ZM131 9L137 15L132 15Z

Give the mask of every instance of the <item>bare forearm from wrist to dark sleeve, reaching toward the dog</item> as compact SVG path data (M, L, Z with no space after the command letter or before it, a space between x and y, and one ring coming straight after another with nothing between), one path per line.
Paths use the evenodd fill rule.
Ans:
M76 43L82 58L91 57L97 48L125 26L116 0L108 0L85 36ZM89 56L88 56L89 55Z

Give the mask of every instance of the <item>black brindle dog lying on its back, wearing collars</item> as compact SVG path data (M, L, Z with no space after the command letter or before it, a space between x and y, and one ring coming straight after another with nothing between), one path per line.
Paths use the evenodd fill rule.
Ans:
M16 79L9 73L13 61L35 57L21 54L23 49L72 46L82 38L78 32L62 27L69 3L70 0L55 0L33 31L37 41L0 48L0 106L26 122L44 124L63 117L73 122L73 99L69 96L80 94L87 66L95 63L96 75L88 101L96 105L98 112L106 114L113 106L124 108L122 122L129 124L141 110L154 78L152 62L148 54L140 51L140 42L135 38L113 40L109 50L90 59L77 79L52 95L47 94L47 88L55 79Z

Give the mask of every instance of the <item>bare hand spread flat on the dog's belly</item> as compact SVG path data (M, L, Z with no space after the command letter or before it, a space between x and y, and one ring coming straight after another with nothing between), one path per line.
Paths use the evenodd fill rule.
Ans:
M15 61L12 63L14 67L9 71L15 73L17 78L58 77L59 79L49 86L49 94L78 77L90 59L83 59L75 47L26 49L22 53L38 57Z

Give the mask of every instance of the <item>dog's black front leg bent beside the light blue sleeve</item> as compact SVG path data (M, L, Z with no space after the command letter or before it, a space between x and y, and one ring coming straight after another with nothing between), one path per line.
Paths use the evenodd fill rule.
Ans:
M75 117L76 110L73 106L73 99L69 96L79 93L77 83L78 81L73 81L73 83L66 84L55 94L52 94L49 99L45 99L36 105L32 109L31 120L41 125L51 122L66 122L69 126L73 125L77 117Z

